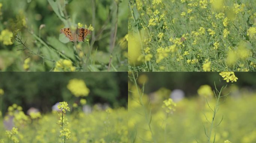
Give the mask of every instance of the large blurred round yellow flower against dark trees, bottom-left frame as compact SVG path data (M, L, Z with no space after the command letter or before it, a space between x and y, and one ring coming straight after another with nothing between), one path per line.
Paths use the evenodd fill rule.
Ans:
M85 82L82 79L71 79L67 85L68 90L76 96L87 96L90 90L87 88Z

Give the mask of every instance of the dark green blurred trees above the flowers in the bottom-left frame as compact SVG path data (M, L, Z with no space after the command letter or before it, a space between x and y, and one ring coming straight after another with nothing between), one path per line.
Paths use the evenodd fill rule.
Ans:
M90 92L85 96L88 105L108 103L110 107L127 107L127 73L125 72L2 72L0 88L4 90L2 109L16 103L27 111L30 107L42 112L51 111L57 102L66 101L70 106L80 98L67 89L70 79L82 79Z

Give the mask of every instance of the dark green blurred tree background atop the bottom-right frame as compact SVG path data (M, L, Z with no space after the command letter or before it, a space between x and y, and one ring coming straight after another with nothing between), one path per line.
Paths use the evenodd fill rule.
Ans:
M235 72L238 77L237 82L226 83L219 75L220 72L161 72L159 73L144 73L139 72L139 75L145 74L148 82L145 84L145 93L150 93L159 88L182 89L186 96L195 96L197 89L201 85L209 85L214 88L214 82L217 89L223 85L237 85L240 88L256 89L256 73L254 72Z

